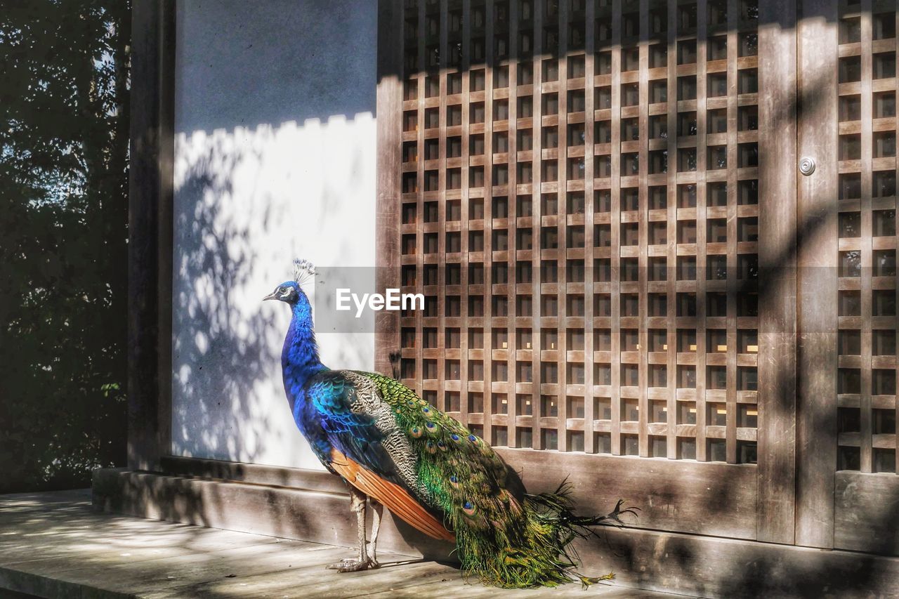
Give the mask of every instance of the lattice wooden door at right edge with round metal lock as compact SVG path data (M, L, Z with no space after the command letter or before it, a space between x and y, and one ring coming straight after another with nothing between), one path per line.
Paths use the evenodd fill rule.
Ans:
M802 17L797 543L895 555L895 2Z

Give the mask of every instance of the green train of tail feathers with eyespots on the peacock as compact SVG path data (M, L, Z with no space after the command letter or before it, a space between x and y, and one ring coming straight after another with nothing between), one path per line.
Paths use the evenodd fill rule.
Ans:
M483 439L443 414L398 380L360 373L373 380L406 432L417 456L411 490L455 532L463 572L485 585L505 588L558 586L580 580L584 586L613 575L584 577L576 572L572 542L601 523L621 525L615 509L603 516L574 514L571 486L527 494L518 476Z

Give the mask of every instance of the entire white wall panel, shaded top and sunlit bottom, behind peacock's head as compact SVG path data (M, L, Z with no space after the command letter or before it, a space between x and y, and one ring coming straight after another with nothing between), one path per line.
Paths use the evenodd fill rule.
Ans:
M374 264L377 3L177 3L175 455L319 468L280 379L290 262ZM319 335L369 370L373 335Z

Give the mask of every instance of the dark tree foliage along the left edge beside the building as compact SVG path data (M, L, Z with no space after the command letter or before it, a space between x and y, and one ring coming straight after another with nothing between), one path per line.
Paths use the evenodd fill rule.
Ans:
M0 1L0 493L125 459L127 0Z

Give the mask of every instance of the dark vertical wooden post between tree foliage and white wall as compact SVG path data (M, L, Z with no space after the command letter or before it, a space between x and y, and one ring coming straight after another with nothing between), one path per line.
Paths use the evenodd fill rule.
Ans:
M172 447L174 2L131 13L128 463L154 470Z

